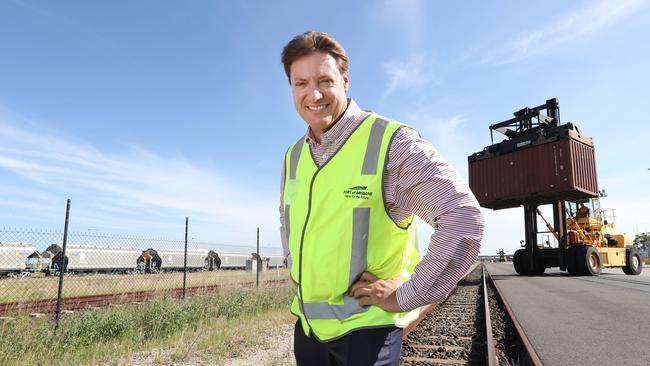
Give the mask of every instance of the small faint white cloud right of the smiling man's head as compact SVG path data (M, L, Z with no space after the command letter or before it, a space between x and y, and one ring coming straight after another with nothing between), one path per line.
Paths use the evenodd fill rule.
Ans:
M422 54L415 54L407 59L391 60L383 65L388 76L388 84L384 89L382 98L386 98L394 91L421 87L434 81L430 70L430 62Z

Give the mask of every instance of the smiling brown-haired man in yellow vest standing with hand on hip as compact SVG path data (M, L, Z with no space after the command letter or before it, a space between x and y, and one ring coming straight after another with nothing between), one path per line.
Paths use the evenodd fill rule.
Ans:
M348 57L309 31L282 52L307 133L282 170L282 244L297 287L298 365L398 365L402 327L478 255L483 219L433 146L347 98ZM420 261L414 215L436 228Z

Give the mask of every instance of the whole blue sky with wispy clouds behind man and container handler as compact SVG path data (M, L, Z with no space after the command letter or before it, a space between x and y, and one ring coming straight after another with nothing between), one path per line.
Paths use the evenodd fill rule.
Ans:
M467 177L488 126L557 97L594 138L620 232L650 231L645 0L0 2L0 226L279 246L279 179L305 132L280 64L294 35L346 48L350 91ZM482 253L523 238L485 210ZM428 228L421 229L426 245Z

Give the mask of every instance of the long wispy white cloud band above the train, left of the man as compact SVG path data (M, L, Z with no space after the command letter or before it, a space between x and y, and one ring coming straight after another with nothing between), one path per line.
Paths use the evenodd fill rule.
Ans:
M235 177L183 156L136 146L108 153L43 131L0 117L0 176L6 177L0 208L15 217L51 219L53 211L43 208L71 196L82 226L137 232L167 226L169 232L170 223L189 216L197 237L252 243L260 226L265 242L279 243L277 197L263 197Z

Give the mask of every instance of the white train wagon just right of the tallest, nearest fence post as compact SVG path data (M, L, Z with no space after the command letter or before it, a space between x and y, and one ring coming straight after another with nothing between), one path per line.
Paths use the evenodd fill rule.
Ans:
M125 247L67 245L68 272L127 272L135 270L142 250Z

